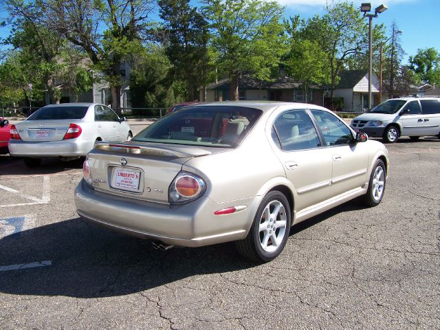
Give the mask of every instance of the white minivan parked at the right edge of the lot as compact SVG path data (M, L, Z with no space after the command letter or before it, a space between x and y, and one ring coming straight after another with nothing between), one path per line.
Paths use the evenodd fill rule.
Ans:
M393 98L354 118L351 127L394 143L401 136L440 139L440 98Z

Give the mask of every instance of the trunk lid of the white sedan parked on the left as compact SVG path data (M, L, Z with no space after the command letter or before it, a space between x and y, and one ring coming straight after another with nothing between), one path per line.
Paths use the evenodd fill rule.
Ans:
M75 120L26 120L15 126L23 141L61 141L72 122Z

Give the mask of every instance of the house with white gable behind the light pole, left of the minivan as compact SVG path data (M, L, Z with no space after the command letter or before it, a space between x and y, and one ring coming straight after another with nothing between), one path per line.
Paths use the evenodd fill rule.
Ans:
M379 104L379 78L373 73L371 77L373 107ZM334 98L344 101L343 112L364 112L369 104L368 70L347 70L340 74L340 81L333 94ZM382 96L382 101L386 98Z

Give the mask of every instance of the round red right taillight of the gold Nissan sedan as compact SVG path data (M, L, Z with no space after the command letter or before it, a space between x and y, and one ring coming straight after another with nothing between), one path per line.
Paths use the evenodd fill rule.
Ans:
M187 203L203 195L206 190L205 181L198 175L181 172L170 185L168 197L170 203Z

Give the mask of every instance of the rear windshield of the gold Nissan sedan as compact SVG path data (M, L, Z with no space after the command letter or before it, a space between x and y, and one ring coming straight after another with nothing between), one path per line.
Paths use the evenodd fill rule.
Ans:
M261 113L245 107L185 107L148 126L132 141L234 148Z

